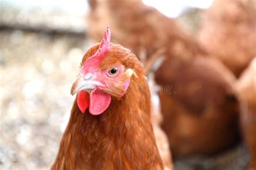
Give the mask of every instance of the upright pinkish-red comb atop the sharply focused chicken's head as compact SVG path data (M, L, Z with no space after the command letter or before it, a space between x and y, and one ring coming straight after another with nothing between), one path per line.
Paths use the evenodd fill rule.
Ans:
M92 57L96 57L99 60L102 60L102 58L110 51L110 39L110 29L109 26L107 26L104 32L104 38L102 42L100 42L99 49Z

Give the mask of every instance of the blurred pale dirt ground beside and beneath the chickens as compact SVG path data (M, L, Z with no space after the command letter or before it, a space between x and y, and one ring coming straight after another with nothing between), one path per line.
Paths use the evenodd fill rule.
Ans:
M0 31L0 169L49 169L68 122L85 36ZM213 158L176 160L176 169L246 169L240 144Z

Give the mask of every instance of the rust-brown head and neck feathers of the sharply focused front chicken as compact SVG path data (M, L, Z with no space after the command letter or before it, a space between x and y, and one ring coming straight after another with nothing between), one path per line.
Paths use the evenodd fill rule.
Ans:
M85 53L82 66L98 48L99 44ZM117 98L113 95L117 89L107 91L111 103L100 115L91 115L90 109L83 114L76 98L51 169L163 169L150 121L150 91L143 68L131 51L111 44L100 70L118 65L134 73L126 93ZM122 84L108 83L107 88Z

